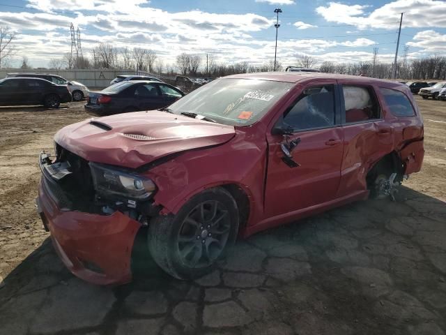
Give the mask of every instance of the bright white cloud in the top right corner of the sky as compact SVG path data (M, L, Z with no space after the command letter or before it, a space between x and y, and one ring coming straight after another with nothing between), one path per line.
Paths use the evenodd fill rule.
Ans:
M316 8L316 13L329 22L352 24L358 29L397 29L401 13L403 28L446 27L446 1L397 0L366 13L368 7L329 2Z

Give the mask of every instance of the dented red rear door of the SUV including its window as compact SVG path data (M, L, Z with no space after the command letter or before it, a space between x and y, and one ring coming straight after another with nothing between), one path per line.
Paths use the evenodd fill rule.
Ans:
M383 117L376 87L364 82L339 80L344 154L337 196L367 190L366 176L379 158L392 151L392 123Z

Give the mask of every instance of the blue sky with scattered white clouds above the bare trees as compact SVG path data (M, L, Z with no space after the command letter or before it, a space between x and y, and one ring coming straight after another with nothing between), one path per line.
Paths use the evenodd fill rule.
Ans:
M322 61L393 61L399 55L446 56L446 1L440 0L0 0L0 27L16 32L15 58L48 66L70 52L70 23L79 27L84 56L98 43L144 47L164 65L181 52L217 62L293 66L302 55Z

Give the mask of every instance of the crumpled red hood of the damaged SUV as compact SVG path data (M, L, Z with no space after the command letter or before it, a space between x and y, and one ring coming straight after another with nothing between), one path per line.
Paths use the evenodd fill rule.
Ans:
M223 144L235 133L233 126L153 110L72 124L54 140L87 161L138 168L169 154Z

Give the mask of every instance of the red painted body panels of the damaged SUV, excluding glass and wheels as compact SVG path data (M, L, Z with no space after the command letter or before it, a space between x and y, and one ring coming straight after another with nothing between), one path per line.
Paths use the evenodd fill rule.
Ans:
M167 112L136 112L98 119L112 127L111 131L84 121L63 128L55 140L87 161L126 168L138 168L157 158L181 153L141 172L157 186L154 201L162 207L161 213L176 214L187 200L205 188L236 184L249 198L248 221L240 232L245 237L366 199L367 172L393 151L401 157L406 174L420 171L424 154L423 123L405 85L321 73L255 73L231 77L295 82L295 86L252 126L224 126ZM301 139L293 151L300 166L289 168L282 161L283 137L272 135L271 130L302 90L316 84L357 84L374 89L382 119L291 135L289 140ZM415 117L395 117L383 101L379 87L406 94L415 108ZM125 137L125 133L151 138L134 140ZM122 283L130 279L128 250L132 248L139 223L120 212L111 216L61 212L42 188L40 201L53 239L73 262L69 266L73 273L95 283ZM82 255L103 267L105 278L81 269L76 258Z

